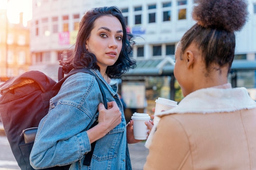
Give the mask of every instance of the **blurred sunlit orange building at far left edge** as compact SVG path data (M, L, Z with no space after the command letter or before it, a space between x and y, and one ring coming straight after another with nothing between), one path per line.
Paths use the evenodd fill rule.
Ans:
M29 71L30 30L29 26L20 23L11 24L7 20L6 10L0 10L0 78L1 81Z

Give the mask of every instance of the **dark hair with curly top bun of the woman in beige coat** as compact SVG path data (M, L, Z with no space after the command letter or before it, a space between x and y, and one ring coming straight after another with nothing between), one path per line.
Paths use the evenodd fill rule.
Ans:
M228 66L229 72L236 46L234 31L242 29L247 21L247 1L197 0L192 16L197 23L180 40L182 53L191 43L195 43L207 72L213 63L220 68Z

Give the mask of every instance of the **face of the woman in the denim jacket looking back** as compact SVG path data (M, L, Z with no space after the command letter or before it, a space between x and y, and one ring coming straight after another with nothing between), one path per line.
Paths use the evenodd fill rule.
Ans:
M94 28L86 41L86 49L97 58L97 65L106 72L110 65L117 61L122 49L123 28L114 16L102 16L94 22Z

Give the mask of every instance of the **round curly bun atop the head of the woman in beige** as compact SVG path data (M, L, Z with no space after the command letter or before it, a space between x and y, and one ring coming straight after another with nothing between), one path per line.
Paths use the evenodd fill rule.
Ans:
M217 28L234 32L247 21L246 0L197 0L192 17L204 28Z

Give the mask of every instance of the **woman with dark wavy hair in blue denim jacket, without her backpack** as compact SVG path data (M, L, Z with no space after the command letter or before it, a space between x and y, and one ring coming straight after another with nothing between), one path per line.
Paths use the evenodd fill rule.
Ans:
M30 154L35 169L69 165L72 170L131 169L127 148L138 142L131 130L126 134L126 120L117 85L110 78L135 67L129 57L132 35L117 7L94 8L83 15L76 44L70 58L63 57L65 73L88 68L95 76L79 72L69 76L50 100L50 108L38 126ZM99 79L99 82L95 78ZM106 93L104 108L99 84ZM98 122L96 126L92 126ZM85 158L96 141L91 161Z

